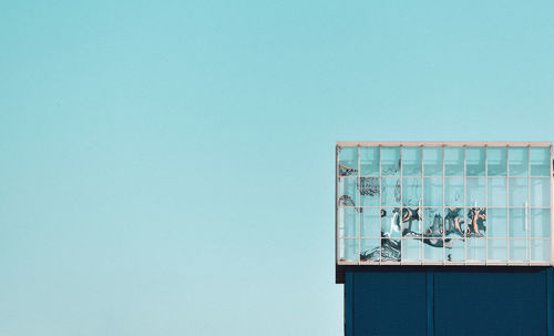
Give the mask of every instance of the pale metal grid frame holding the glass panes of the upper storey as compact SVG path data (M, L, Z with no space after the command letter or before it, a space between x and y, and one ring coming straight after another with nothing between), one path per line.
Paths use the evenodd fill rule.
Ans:
M379 149L379 175L376 176L378 179L378 182L379 182L379 206L378 208L380 210L382 207L382 200L381 200L381 190L382 190L382 165L381 165L381 159L382 159L382 147L383 146L398 146L399 147L399 151L400 151L400 213L399 213L399 216L400 216L400 245L402 247L403 245L403 236L402 236L402 207L403 207L403 177L419 177L419 176L411 176L411 175L407 175L404 176L403 174L403 164L402 164L402 149L403 147L408 147L408 146L420 146L421 147L421 206L420 206L420 211L421 211L421 221L420 221L420 225L421 225L421 262L404 262L401 261L400 262L390 262L390 261L386 261L383 262L382 261L382 256L381 256L381 247L382 247L382 237L380 236L379 237L379 262L369 262L369 263L362 263L359 258L359 254L361 252L361 194L360 194L360 191L359 189L357 189L357 193L358 193L358 197L357 197L357 204L355 204L355 208L357 210L357 232L358 232L358 236L357 237L339 237L339 232L340 232L340 225L339 225L339 207L340 207L340 204L339 204L339 179L342 177L345 179L343 176L339 176L340 175L340 170L339 170L339 163L340 163L340 157L339 157L339 149L342 147L342 146L357 146L358 147L358 160L357 160L357 169L358 169L358 174L357 174L357 182L358 182L358 185L360 183L360 179L361 179L361 147L363 146L376 146ZM424 175L424 165L423 165L423 160L424 160L424 155L423 155L423 149L424 147L442 147L442 176L425 176ZM489 156L489 146L497 146L497 147L501 147L501 146L505 146L506 147L506 176L505 176L505 181L506 181L506 262L505 263L502 263L502 262L496 262L496 261L489 261L489 240L490 238L493 238L493 237L489 237L489 230L485 232L485 236L483 237L485 240L485 259L484 261L468 261L468 237L466 237L466 230L464 232L464 262L463 263L456 263L456 262L447 262L447 254L445 254L445 247L443 246L442 247L442 255L443 255L443 258L442 258L442 262L435 262L435 261L425 261L424 258L424 244L423 244L423 238L424 238L424 228L425 228L425 224L424 224L424 208L442 208L443 211L443 217L444 217L444 214L445 214L445 185L444 185L444 182L445 182L445 177L462 177L462 176L447 176L447 172L445 172L445 147L450 147L450 146L458 146L458 147L463 147L463 186L464 186L464 194L463 194L463 197L464 197L464 203L463 203L463 215L465 216L465 210L469 207L466 205L466 149L468 146L483 146L484 147L484 151L485 151L485 172L484 172L484 181L485 181L485 208L486 208L486 213L489 215L489 208L504 208L504 207L494 207L494 206L489 206L489 162L488 162L488 156ZM526 176L512 176L510 174L510 147L527 147L527 175ZM551 195L551 202L550 202L550 207L545 207L545 206L531 206L531 179L532 177L545 177L545 176L532 176L532 173L531 173L531 147L534 147L534 146L548 146L550 147L550 195ZM554 190L553 190L553 184L554 184L554 171L553 171L553 166L552 166L552 159L553 159L553 146L552 146L552 142L353 142L353 141L340 141L340 142L337 142L337 149L336 149L336 215L335 215L335 234L336 234L336 263L338 265L360 265L360 264L363 264L363 265L404 265L404 264L408 264L408 265L413 265L413 264L417 264L417 265L437 265L437 264L441 264L441 265L459 265L459 264L463 264L463 265L540 265L540 266L544 266L544 265L554 265L554 212L552 211L554 208ZM442 207L441 206L424 206L424 179L425 177L442 177ZM526 177L527 179L527 197L526 197L526 204L525 206L510 206L510 179L513 179L513 177ZM347 207L350 207L350 206L345 206L345 210ZM371 207L377 207L377 206L371 206ZM516 238L512 238L510 237L510 210L511 208L525 208L525 226L526 226L526 240L525 238L521 238L521 240L525 240L526 241L526 262L512 262L511 261L511 253L510 253L510 250L511 250L511 241L512 240L516 240ZM532 210L533 208L550 208L551 210L551 236L550 236L550 250L551 250L551 262L550 263L544 263L544 262L534 262L532 259L532 254L531 254L531 248L532 248L532 242L534 242L535 240L536 241L546 241L548 238L532 238L531 237L531 228L533 226L533 223L532 223ZM444 226L444 222L443 222L443 238L447 238L445 236L445 226ZM469 223L466 223L465 227L468 227ZM379 232L381 232L381 217L379 216ZM340 240L341 238L357 238L358 240L358 256L357 256L357 261L341 261L340 259ZM346 241L343 241L346 243ZM346 246L342 246L342 248L345 248ZM402 251L403 248L401 248ZM401 256L402 257L402 256Z

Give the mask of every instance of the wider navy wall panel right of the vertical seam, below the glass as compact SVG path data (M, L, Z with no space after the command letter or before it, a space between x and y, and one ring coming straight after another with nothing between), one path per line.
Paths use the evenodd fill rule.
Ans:
M544 269L435 272L435 335L545 335L546 292Z

